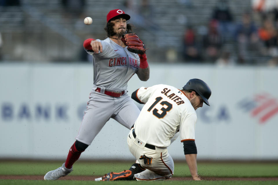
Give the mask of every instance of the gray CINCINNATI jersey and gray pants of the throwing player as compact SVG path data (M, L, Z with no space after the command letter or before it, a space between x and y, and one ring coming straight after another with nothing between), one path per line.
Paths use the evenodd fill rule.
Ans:
M138 71L140 58L109 38L97 40L101 42L103 52L89 52L93 56L94 85L87 103L76 140L90 145L105 123L115 119L127 128L134 125L140 110L126 93L128 80ZM96 88L101 88L97 92ZM105 90L123 91L120 97L111 97Z

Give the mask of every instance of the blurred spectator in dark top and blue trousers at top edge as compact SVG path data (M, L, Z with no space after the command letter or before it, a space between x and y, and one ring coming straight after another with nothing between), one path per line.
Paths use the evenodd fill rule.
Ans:
M234 32L233 16L226 0L219 0L213 10L212 19L218 21L218 31L225 38L230 39Z

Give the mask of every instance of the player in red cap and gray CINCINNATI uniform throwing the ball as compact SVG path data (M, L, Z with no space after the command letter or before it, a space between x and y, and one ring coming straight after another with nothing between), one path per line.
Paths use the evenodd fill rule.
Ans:
M130 52L121 40L123 34L131 32L131 25L127 24L129 19L130 16L122 10L111 10L107 14L105 27L108 38L84 41L85 50L93 56L94 67L94 84L87 110L65 163L46 173L45 180L57 180L69 174L74 162L110 118L131 129L140 114L138 107L127 95L127 82L135 73L140 80L147 81L149 66L145 53Z

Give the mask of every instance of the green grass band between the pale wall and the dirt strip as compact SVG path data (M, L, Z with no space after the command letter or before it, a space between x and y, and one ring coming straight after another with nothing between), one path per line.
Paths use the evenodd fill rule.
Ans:
M60 167L63 162L0 161L0 175L45 175ZM129 169L133 162L77 161L70 175L102 176L110 171ZM214 177L278 177L278 162L197 162L201 176ZM175 177L190 177L186 162L175 162Z

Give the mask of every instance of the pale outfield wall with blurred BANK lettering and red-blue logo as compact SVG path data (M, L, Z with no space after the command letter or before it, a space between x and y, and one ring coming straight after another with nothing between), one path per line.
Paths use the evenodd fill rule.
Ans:
M150 64L150 68L147 82L136 75L130 79L129 95L155 84L182 88L191 78L203 79L211 87L211 106L197 110L198 159L278 159L277 68L188 64ZM0 158L65 159L92 83L90 64L0 64ZM133 159L128 132L109 120L81 159ZM184 159L179 138L169 153Z

